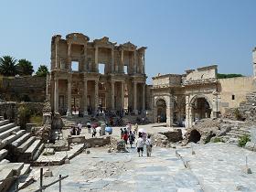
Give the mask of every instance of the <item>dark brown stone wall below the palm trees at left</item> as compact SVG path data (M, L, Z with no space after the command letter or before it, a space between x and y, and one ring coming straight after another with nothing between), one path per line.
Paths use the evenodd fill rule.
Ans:
M2 78L1 99L4 101L44 101L46 77Z

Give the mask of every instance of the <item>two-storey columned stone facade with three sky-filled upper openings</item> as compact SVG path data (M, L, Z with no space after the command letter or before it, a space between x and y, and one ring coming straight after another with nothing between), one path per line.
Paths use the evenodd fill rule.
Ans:
M145 110L145 47L117 45L108 37L95 39L71 33L51 40L50 101L52 110L70 115L99 108Z

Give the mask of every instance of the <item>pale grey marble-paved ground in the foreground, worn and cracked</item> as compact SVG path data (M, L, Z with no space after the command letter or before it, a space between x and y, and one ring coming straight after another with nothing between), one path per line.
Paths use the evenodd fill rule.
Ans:
M91 148L69 165L52 168L56 180L59 174L69 175L62 181L63 191L256 191L256 154L229 144L205 144L191 148L155 147L152 157L138 157L135 148L126 154L108 154L105 148ZM183 160L176 157L176 153ZM242 173L248 155L252 174ZM188 161L190 168L184 162ZM22 191L33 191L35 183ZM59 184L46 192L59 191Z

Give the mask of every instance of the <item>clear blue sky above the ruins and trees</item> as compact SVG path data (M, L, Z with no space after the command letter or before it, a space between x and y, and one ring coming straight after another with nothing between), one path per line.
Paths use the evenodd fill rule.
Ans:
M148 82L158 72L211 64L252 74L255 0L6 0L0 7L0 56L31 60L35 69L49 66L53 35L80 32L148 47Z

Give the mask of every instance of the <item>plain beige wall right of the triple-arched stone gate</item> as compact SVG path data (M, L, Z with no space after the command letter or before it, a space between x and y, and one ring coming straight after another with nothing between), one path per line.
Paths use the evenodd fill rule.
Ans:
M252 77L239 77L219 80L220 112L226 108L238 108L240 102L246 101L246 95L256 91L256 84Z

